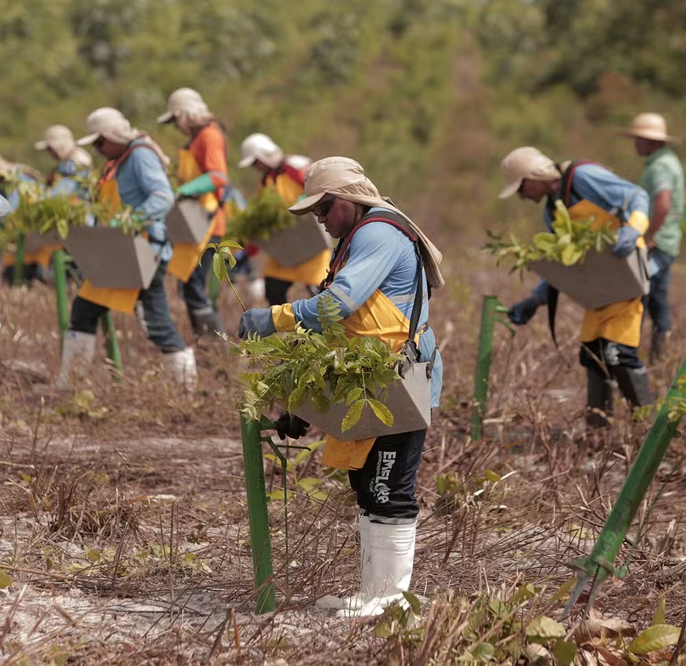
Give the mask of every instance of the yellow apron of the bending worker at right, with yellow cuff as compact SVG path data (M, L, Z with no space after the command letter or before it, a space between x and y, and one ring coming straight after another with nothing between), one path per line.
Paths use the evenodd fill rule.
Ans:
M569 217L572 219L594 217L594 228L598 228L606 222L610 222L613 229L617 229L620 225L619 219L615 215L588 200L581 200L571 206ZM643 233L644 229L639 229L639 231ZM646 247L643 236L637 240L636 246L637 248ZM640 297L612 303L598 310L586 310L581 325L581 342L591 342L598 337L604 337L605 340L637 347L641 342L642 319L643 303Z

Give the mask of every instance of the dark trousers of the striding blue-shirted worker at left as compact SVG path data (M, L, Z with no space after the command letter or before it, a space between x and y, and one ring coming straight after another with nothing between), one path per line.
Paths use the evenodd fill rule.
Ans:
M165 292L165 272L167 272L167 262L163 261L157 267L150 287L141 289L138 300L143 309L147 337L164 353L171 353L183 350L186 346L169 313L167 292ZM77 296L71 304L69 327L72 331L95 335L97 322L107 311L108 308L104 305L97 305L97 303Z

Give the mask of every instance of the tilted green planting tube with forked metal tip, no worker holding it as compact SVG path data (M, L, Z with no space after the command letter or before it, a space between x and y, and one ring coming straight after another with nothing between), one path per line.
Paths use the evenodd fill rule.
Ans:
M587 558L576 560L570 564L571 568L578 571L576 586L573 589L565 612L569 612L573 604L580 597L584 587L592 578L593 586L589 593L586 613L593 606L595 596L598 594L600 585L608 574L623 578L626 568L617 571L614 567L615 558L626 538L626 533L636 515L636 512L646 495L657 468L663 459L667 447L676 435L679 421L683 416L681 403L686 401L686 359L676 373L672 386L660 411L648 432L646 441L643 442L641 451L636 457L629 471L622 490L619 491L610 515L593 546L591 554Z

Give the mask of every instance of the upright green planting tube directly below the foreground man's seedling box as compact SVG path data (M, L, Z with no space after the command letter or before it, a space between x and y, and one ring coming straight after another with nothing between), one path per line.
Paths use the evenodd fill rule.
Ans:
M274 594L274 568L272 567L272 541L269 536L267 514L267 487L264 482L262 458L263 425L254 418L241 416L243 460L246 469L246 494L248 496L248 519L250 521L250 545L252 567L255 570L257 605L255 612L270 613L276 608ZM274 427L274 424L270 424Z

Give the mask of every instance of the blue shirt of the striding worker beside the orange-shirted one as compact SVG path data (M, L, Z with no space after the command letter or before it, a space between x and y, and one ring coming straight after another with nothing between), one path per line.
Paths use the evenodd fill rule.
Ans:
M139 143L145 141L135 139L131 145ZM169 261L167 215L174 206L174 191L159 156L148 147L137 148L119 165L115 178L121 202L150 221L146 226L150 243L156 251L159 248L162 261Z

